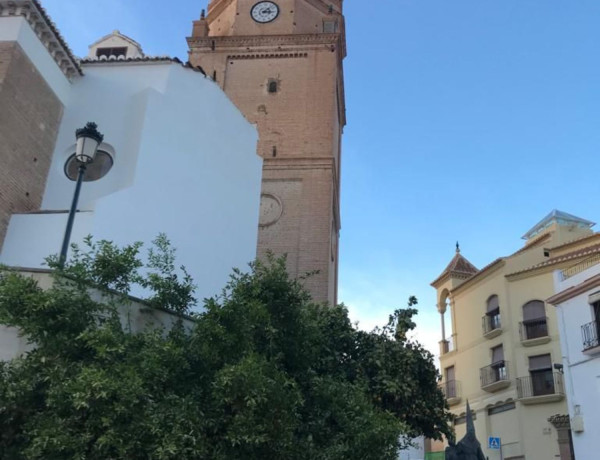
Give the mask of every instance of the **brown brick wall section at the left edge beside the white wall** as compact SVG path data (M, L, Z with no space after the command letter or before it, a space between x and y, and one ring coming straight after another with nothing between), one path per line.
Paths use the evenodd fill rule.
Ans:
M0 42L0 249L11 214L40 208L62 114L19 44Z

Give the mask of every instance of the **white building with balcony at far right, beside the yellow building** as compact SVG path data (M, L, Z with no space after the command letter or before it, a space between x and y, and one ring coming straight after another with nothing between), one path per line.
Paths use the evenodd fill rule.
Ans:
M575 458L598 458L600 427L600 256L554 272L562 362Z

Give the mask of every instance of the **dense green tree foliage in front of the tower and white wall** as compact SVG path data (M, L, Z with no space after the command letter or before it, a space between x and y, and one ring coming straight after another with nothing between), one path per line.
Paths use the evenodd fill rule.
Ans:
M191 330L131 333L117 309L133 283L177 314L194 304L168 240L144 275L139 249L89 240L46 290L2 272L0 323L35 346L0 363L0 458L381 460L451 436L432 356L406 338L416 310L357 330L270 258L234 271Z

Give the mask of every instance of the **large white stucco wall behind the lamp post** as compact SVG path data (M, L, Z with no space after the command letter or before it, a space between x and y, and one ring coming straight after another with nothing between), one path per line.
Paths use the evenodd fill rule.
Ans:
M220 293L231 269L256 255L262 160L255 127L214 82L177 63L90 64L84 72L71 85L42 209L69 208L74 182L64 162L75 130L94 121L114 166L83 184L79 209L90 212L78 214L72 241L89 232L147 245L164 232L198 297ZM66 216L13 216L0 262L42 266L60 249L60 220Z

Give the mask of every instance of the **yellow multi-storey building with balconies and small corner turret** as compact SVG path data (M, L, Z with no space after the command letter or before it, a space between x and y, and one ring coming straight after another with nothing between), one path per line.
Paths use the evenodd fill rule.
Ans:
M457 246L432 282L442 317L441 386L456 435L465 434L468 400L490 460L573 458L557 318L544 300L554 293L554 270L600 257L593 225L552 211L525 234L523 248L481 270ZM489 437L502 449L488 448Z

